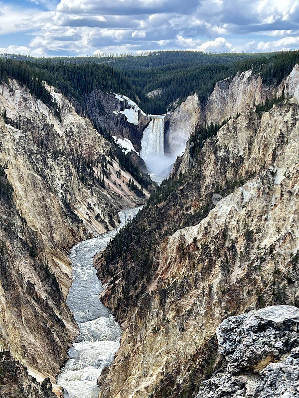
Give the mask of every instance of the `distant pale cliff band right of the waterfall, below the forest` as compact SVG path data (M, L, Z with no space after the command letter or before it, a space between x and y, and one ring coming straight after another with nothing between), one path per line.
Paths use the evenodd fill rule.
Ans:
M295 71L292 73L294 75ZM290 76L292 82L293 75ZM279 89L266 86L260 76L249 70L216 83L207 101L198 100L196 94L189 96L166 116L165 152L175 156L181 155L196 125L219 124L254 108L276 93L280 93L281 96L284 87L285 82ZM292 87L290 90L294 92Z

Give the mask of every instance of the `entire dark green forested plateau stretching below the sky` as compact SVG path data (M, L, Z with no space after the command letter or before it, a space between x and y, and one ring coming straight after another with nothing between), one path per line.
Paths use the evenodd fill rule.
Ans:
M1 74L12 74L25 84L41 80L57 86L84 108L84 95L100 89L124 94L147 113L164 113L173 101L194 94L206 99L219 80L253 67L267 84L279 83L299 62L299 51L265 54L205 54L195 51L152 52L143 56L32 58L3 55ZM30 80L36 76L37 82ZM160 89L156 96L147 93ZM42 94L44 97L47 93Z

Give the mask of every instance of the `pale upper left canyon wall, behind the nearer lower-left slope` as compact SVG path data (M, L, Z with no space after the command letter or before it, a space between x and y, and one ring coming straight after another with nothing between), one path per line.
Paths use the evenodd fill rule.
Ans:
M120 166L111 157L109 142L66 98L55 94L61 106L58 120L17 82L1 90L0 107L6 115L1 161L16 205L49 251L55 251L58 263L60 257L67 261L68 247L113 228L117 211L143 199L127 186L132 176L117 173Z

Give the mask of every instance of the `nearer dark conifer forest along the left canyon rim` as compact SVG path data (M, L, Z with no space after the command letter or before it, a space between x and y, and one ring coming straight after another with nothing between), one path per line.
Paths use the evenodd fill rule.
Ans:
M57 87L66 96L76 100L84 109L84 95L94 90L125 94L136 100L136 89L121 72L105 64L92 62L76 65L51 59L18 60L0 58L0 77L11 76L25 84L38 98L46 102L50 98L43 81Z

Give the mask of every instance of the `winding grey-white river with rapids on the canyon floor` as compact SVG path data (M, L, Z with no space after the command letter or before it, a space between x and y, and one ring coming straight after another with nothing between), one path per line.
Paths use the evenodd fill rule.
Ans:
M80 335L68 350L69 359L57 376L57 384L65 390L64 398L96 398L97 378L102 369L112 363L119 349L121 328L99 300L103 287L96 276L93 258L141 207L121 211L117 228L71 249L73 283L66 301L79 325Z

